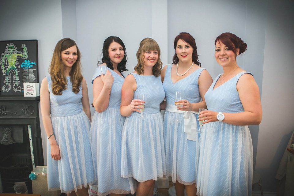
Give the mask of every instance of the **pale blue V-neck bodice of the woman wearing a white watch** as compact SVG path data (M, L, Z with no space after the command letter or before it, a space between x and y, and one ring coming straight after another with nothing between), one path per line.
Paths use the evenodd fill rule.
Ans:
M211 111L228 113L243 112L244 108L241 103L239 93L236 89L236 84L239 78L246 73L251 74L245 71L240 72L213 90L213 87L215 86L221 74L218 75L204 96L207 109Z

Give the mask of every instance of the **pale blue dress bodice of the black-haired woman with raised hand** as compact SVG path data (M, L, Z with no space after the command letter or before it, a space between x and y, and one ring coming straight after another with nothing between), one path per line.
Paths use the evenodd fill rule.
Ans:
M111 75L114 77L114 80L111 86L110 96L109 96L108 108L119 108L120 102L121 102L121 90L122 90L122 85L125 78L121 77L119 74L117 74L115 71L111 70L108 67L107 67L107 70L109 70ZM100 75L101 75L101 69L100 67L97 67L92 77L92 84L94 79Z

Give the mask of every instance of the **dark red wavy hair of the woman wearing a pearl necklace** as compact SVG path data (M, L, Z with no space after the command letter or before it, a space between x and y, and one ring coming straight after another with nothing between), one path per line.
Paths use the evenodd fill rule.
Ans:
M176 50L177 48L177 43L179 41L179 39L183 40L184 42L188 43L190 46L192 46L193 48L193 53L192 53L192 61L201 67L201 63L198 60L198 54L197 54L197 46L196 46L196 42L193 36L190 35L190 33L186 33L186 32L181 32L179 35L177 35L175 37L175 41L174 41L174 48ZM179 58L177 53L175 52L174 57L172 58L172 63L173 64L177 64L179 62Z

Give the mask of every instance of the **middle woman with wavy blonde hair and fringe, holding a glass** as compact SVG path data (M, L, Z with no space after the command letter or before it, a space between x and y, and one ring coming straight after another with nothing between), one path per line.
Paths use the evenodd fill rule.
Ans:
M159 112L164 89L156 41L142 40L137 59L135 71L126 77L122 87L120 113L127 117L123 126L121 176L139 182L137 196L152 196L155 180L165 175L163 121Z

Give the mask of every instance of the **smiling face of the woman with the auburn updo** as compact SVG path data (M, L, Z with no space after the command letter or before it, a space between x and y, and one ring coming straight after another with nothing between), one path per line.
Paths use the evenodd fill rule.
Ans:
M230 48L224 45L222 42L215 44L215 59L221 66L230 66L236 64L236 55L239 53L237 48L237 54L235 54Z

